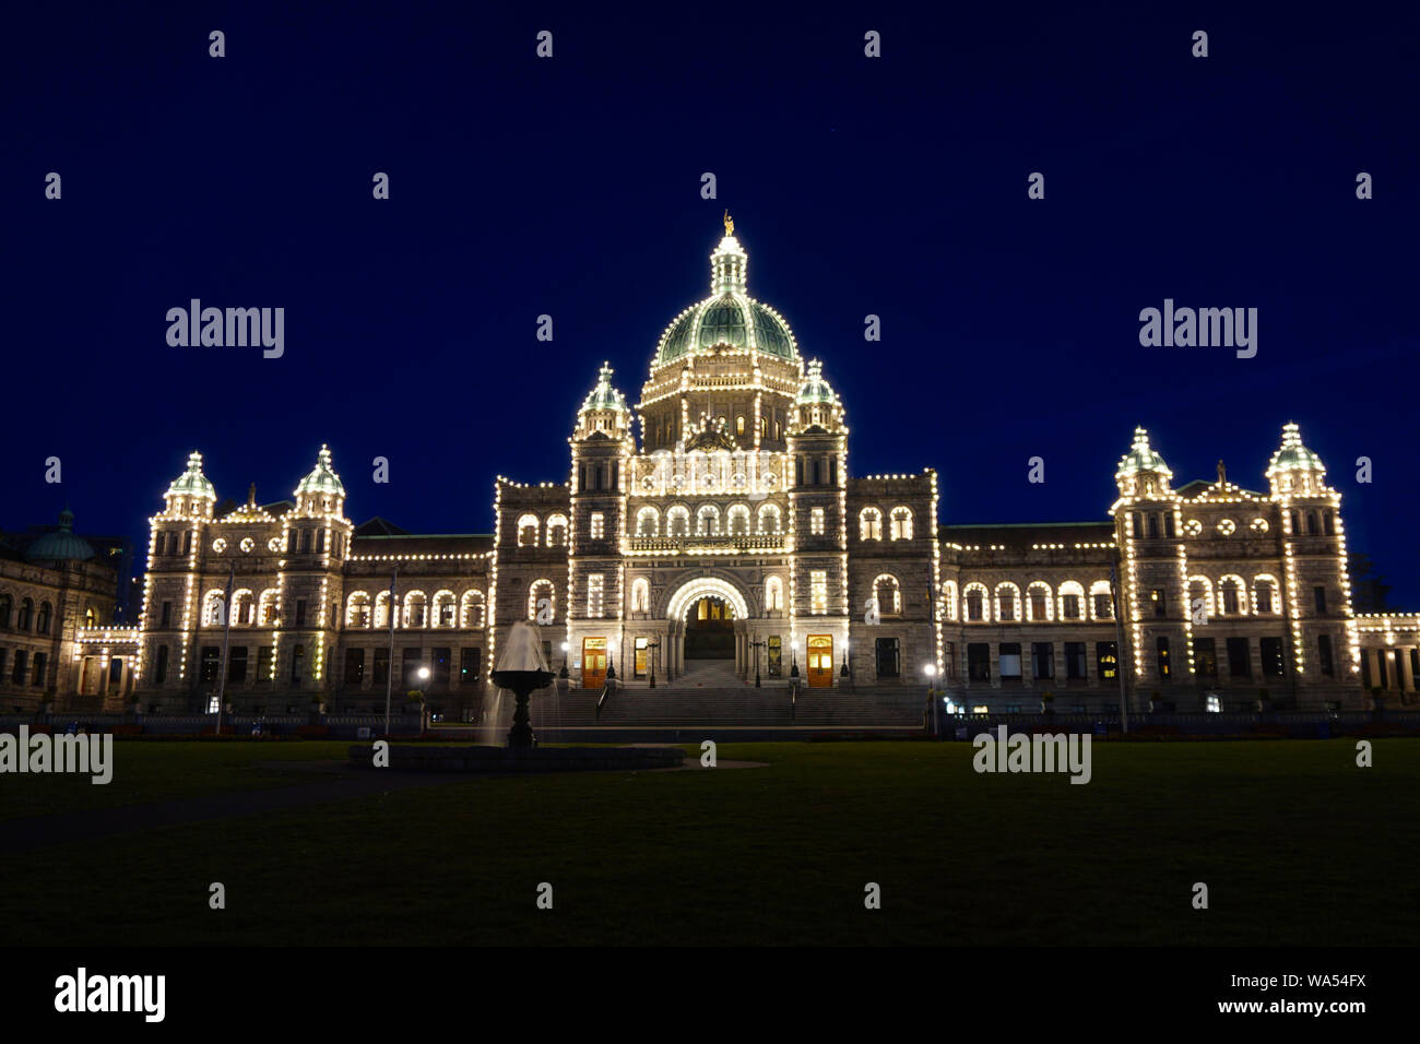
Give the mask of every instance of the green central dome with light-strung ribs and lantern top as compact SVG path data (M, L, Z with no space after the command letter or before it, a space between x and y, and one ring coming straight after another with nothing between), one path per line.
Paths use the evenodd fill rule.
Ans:
M686 308L666 327L656 345L655 366L717 347L765 352L795 361L798 351L790 324L767 304L748 297L748 256L726 234L710 254L710 297Z

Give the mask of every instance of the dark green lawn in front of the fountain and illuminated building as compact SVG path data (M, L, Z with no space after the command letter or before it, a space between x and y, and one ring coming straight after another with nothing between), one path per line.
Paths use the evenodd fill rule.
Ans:
M186 793L270 785L243 751L346 744L129 746L152 795L169 758ZM771 766L470 778L77 841L6 871L81 918L16 916L24 889L0 912L20 945L1410 945L1420 743L1375 749L1363 770L1345 740L1100 743L1071 785L978 776L966 744L721 744Z

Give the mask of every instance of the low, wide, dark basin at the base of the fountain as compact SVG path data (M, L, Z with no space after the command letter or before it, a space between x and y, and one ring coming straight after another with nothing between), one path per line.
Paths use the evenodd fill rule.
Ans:
M373 744L349 749L351 764L371 767ZM680 747L435 747L390 746L389 767L425 773L591 773L679 768Z

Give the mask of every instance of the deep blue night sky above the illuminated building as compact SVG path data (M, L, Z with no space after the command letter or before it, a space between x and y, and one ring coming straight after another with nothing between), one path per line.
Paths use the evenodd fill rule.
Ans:
M638 398L728 206L853 473L936 466L950 523L1100 518L1135 423L1177 484L1260 489L1296 420L1420 608L1416 16L287 7L7 16L0 526L142 537L192 447L273 500L328 442L356 521L486 531L497 473L565 479L604 358ZM284 358L168 347L193 297L284 307ZM1257 358L1142 348L1166 297L1258 308Z

